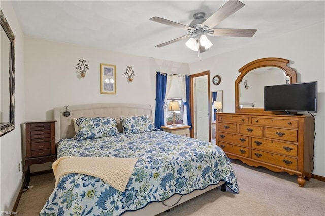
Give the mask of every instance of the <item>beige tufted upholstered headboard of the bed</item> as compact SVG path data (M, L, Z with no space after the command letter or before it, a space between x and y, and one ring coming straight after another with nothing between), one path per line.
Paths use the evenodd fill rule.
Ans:
M117 129L120 133L123 132L123 126L120 120L121 116L141 116L149 115L152 118L150 105L130 104L130 103L94 103L84 105L68 106L70 116L65 117L63 113L66 107L54 108L55 122L55 143L58 143L63 138L74 137L75 129L73 118L80 117L111 117L117 122Z

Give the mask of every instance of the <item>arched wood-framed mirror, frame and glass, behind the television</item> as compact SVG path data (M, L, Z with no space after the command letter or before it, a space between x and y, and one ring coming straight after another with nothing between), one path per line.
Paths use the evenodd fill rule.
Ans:
M264 86L297 82L297 74L283 58L262 58L239 69L235 81L236 113L272 113L264 111Z

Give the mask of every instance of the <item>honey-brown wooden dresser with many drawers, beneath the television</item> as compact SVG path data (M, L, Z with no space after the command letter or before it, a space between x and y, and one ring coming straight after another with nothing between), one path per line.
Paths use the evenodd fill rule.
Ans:
M314 120L310 115L216 113L216 144L249 166L298 175L300 187L313 170Z

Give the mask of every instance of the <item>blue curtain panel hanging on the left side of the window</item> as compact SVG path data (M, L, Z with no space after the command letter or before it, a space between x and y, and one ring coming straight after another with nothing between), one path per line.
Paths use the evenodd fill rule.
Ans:
M154 115L154 126L161 129L164 125L164 100L166 94L167 76L157 72L156 74L156 111Z

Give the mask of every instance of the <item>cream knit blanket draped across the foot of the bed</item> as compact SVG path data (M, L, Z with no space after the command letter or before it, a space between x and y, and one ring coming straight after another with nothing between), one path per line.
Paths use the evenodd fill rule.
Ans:
M53 165L55 187L62 175L79 173L103 179L119 191L125 191L137 158L64 156Z

